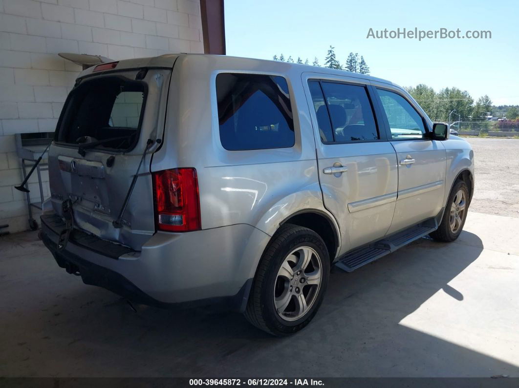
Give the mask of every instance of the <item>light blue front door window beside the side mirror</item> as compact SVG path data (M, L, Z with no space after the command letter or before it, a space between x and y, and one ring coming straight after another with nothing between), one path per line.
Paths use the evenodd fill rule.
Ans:
M393 139L421 139L426 133L424 121L418 112L400 94L377 89Z

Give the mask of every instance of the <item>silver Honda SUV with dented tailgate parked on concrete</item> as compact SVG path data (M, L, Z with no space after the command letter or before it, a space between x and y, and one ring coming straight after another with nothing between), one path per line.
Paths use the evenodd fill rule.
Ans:
M91 67L49 151L41 236L60 267L138 303L305 327L330 267L461 233L470 145L397 85L179 54Z

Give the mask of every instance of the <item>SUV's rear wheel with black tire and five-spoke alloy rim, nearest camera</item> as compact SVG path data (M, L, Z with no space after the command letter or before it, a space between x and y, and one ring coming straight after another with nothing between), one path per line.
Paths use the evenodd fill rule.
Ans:
M322 238L311 229L285 224L261 258L245 318L276 336L298 332L315 317L329 276Z

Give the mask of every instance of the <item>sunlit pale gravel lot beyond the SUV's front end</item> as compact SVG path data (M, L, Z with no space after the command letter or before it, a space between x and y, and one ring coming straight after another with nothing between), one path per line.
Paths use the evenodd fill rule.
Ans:
M475 159L471 211L519 218L519 139L466 138Z

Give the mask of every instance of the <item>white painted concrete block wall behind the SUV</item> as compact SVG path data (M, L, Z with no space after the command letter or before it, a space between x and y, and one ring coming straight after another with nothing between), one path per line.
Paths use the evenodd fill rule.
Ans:
M28 229L15 134L52 132L79 66L59 52L114 60L203 52L199 0L0 0L0 225ZM43 173L48 196L48 174ZM36 174L29 181L38 200Z

